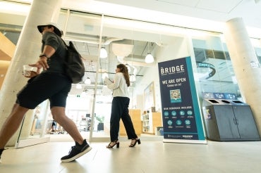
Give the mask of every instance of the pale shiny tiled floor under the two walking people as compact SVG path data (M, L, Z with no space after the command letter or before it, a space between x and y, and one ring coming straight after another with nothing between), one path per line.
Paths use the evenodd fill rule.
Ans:
M142 137L140 138L142 141ZM54 141L25 148L9 148L2 155L1 173L94 172L261 172L261 141L214 142L207 144L142 141L129 148L107 149L108 143L90 143L92 150L73 162L63 163L71 141Z

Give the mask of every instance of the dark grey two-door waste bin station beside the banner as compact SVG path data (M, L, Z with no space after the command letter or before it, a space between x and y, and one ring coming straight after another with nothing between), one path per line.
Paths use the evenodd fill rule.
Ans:
M202 107L207 139L260 141L250 106L238 100L205 99Z

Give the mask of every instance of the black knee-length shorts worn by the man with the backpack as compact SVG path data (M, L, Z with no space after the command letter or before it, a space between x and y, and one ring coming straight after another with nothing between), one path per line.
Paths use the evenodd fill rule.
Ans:
M34 109L49 99L53 106L66 107L66 98L71 90L71 82L65 75L43 72L28 80L28 84L17 94L17 101L24 108Z

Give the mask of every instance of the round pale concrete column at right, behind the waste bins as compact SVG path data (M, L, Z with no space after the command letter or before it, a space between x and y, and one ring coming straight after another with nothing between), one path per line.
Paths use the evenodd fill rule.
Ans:
M261 68L243 19L233 18L227 21L224 36L241 96L253 110L257 129L261 135Z

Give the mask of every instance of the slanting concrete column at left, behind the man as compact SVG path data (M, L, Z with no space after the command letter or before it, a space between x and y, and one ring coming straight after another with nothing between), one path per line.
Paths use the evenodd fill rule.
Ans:
M56 23L61 9L61 0L34 0L32 1L30 13L28 14L23 30L16 45L16 51L8 68L0 93L0 127L11 113L13 103L16 101L16 94L28 81L23 77L23 65L35 63L41 53L42 35L37 30L37 25L44 23ZM32 111L28 112L23 128L30 132L32 126ZM25 136L28 136L26 134ZM21 136L23 137L23 136ZM8 142L13 146L18 139L18 132Z

